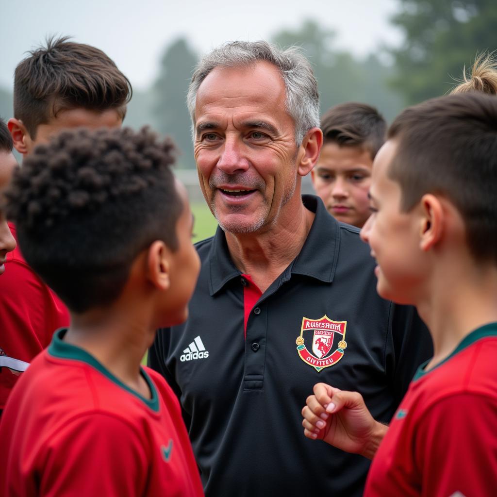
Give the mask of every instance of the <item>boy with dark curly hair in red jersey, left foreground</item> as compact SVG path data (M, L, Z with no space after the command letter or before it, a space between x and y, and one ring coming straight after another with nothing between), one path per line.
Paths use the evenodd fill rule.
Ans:
M147 129L68 130L14 175L7 212L71 326L8 399L1 495L203 495L179 403L140 366L186 319L200 268L174 155Z

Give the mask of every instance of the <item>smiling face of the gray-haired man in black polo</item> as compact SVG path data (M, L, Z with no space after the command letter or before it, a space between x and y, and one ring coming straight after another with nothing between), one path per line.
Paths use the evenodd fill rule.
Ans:
M194 155L202 192L225 231L253 233L282 219L297 181L294 128L272 64L218 67L202 82Z

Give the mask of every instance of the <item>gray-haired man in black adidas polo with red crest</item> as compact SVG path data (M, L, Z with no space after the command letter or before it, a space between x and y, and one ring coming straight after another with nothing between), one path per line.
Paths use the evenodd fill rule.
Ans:
M302 435L318 381L359 390L388 422L431 342L414 310L376 294L359 230L301 178L323 143L317 82L298 50L233 42L188 91L200 186L219 223L184 325L149 364L183 409L207 496L362 494L368 460Z

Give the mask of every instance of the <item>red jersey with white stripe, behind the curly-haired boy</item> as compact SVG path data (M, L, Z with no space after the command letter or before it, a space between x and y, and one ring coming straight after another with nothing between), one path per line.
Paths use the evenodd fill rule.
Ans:
M17 241L15 226L8 226ZM69 326L69 312L28 266L18 245L7 254L0 295L1 411L20 373L48 346L55 330Z

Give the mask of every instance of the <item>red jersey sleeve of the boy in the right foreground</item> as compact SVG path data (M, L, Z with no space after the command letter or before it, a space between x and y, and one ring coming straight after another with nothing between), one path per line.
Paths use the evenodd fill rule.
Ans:
M496 495L496 413L497 399L468 393L424 414L414 445L422 496Z

